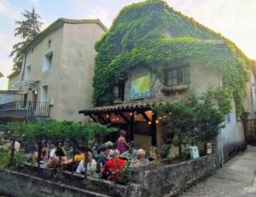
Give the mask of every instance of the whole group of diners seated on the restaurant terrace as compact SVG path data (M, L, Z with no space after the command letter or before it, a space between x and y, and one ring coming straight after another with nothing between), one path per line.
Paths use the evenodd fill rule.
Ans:
M43 146L41 158L47 167L59 165L64 170L75 171L79 174L86 173L92 177L102 177L116 182L125 171L127 160L129 160L131 168L139 168L159 158L158 150L155 147L150 148L148 158L146 158L146 152L142 148L131 148L125 140L125 135L125 130L120 130L116 146L113 142L105 142L93 150L79 148L72 158L67 157L61 142L56 143L55 148L50 151L47 150L46 146ZM84 165L84 159L86 159L87 166Z

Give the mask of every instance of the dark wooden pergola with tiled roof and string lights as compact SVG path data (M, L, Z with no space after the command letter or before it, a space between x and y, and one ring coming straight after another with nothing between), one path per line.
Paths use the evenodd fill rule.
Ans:
M134 137L134 125L137 120L146 121L151 128L151 143L156 146L156 121L157 114L154 112L154 106L161 104L160 101L137 101L114 104L110 106L93 107L80 110L85 116L90 116L95 122L102 125L112 125L123 123L129 125L129 141Z

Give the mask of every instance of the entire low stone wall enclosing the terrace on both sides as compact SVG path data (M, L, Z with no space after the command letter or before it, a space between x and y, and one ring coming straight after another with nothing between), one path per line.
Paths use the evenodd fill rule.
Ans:
M0 170L0 194L12 196L120 196L120 197L158 197L172 196L187 188L201 178L211 176L217 169L215 154L184 161L176 165L165 165L151 171L132 171L131 183L117 185L102 179L89 178L86 189L53 183L24 173ZM80 178L81 182L83 177ZM95 192L91 192L95 191Z

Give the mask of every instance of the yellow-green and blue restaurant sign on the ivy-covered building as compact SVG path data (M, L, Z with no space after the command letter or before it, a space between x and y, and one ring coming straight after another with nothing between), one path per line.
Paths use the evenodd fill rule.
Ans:
M150 97L150 74L131 81L131 99L143 99Z

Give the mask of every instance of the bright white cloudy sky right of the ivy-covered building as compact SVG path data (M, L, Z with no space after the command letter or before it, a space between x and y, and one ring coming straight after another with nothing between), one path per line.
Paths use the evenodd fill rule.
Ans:
M168 0L173 9L193 17L201 24L220 32L256 59L256 2L254 0Z

